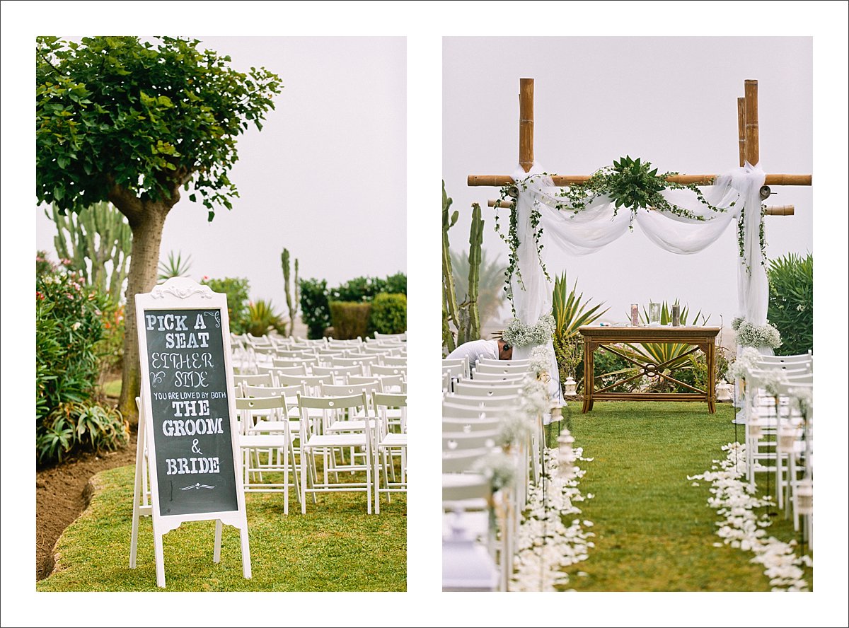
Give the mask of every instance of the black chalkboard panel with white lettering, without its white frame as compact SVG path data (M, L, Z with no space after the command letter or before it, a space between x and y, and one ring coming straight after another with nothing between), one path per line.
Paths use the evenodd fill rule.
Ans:
M221 310L144 310L160 514L236 510Z

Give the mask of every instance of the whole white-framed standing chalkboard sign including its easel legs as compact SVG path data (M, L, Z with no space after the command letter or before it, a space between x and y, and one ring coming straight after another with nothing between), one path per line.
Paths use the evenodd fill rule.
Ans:
M140 515L153 517L159 586L165 586L162 536L183 521L215 519L213 560L221 556L222 525L233 525L250 578L227 296L171 278L136 295L136 322L142 385L130 567L136 566Z

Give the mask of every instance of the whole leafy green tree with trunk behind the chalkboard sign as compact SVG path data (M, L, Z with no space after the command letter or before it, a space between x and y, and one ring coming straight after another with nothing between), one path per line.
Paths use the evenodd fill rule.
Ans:
M155 285L162 228L180 188L212 220L239 193L228 178L236 138L262 128L277 75L229 67L199 40L132 36L36 40L36 194L60 212L109 200L132 229L120 409L135 417L135 295Z

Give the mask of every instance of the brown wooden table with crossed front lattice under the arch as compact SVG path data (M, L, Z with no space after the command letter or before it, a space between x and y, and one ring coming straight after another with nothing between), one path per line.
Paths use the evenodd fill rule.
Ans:
M717 412L717 381L715 367L715 351L717 334L720 328L718 327L672 327L672 326L642 326L642 327L601 327L590 325L578 328L581 332L584 342L584 403L583 412L589 412L593 409L593 401L707 401L708 411L713 414ZM621 350L610 345L624 344L637 345L640 343L674 343L684 345L681 353L676 356L675 360L682 356L689 356L695 351L701 350L707 358L707 390L694 388L689 384L684 384L678 379L672 377L670 373L675 370L675 367L668 369L670 362L653 362L648 357L645 359L633 359L633 356L624 355ZM686 347L690 348L687 349ZM595 373L593 372L594 362L593 354L595 350L603 348L604 350L615 353L617 356L624 358L627 362L631 362L638 368L638 373L633 376L621 379L615 384L604 386L599 390L595 390ZM664 373L669 370L669 373ZM673 384L680 384L685 388L692 390L686 393L623 393L609 392L610 389L616 386L633 381L634 379L643 376L665 379ZM600 376L599 376L600 377Z

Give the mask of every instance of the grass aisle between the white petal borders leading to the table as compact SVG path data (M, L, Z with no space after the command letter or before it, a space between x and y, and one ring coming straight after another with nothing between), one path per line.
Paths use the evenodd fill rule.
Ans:
M575 446L594 458L581 480L582 519L593 522L595 548L568 570L576 591L769 591L751 552L714 547L722 541L707 506L710 485L693 486L688 475L725 458L734 440L734 408L703 403L596 402L581 414L570 405ZM566 416L564 411L564 416ZM738 428L739 438L743 428ZM795 538L783 515L767 535ZM586 576L579 576L577 572ZM811 580L808 580L812 582Z

